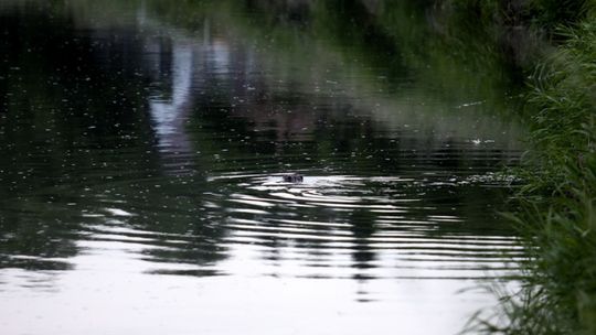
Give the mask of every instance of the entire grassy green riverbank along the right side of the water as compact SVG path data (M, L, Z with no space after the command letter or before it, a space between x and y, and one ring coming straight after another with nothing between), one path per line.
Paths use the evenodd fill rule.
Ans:
M525 65L523 112L533 149L517 172L520 209L509 215L529 250L522 289L501 293L497 312L468 331L596 334L595 1L488 2L450 6L493 26L525 25L555 48Z

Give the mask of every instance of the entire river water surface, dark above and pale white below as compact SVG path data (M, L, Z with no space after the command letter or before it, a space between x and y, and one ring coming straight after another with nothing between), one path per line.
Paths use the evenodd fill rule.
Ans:
M514 79L432 6L53 2L0 2L1 334L454 334L517 273Z

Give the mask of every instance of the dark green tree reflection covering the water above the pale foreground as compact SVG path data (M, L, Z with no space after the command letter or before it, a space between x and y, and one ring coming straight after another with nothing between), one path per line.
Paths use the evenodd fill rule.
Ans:
M424 206L390 219L429 223L429 213L447 213L480 224L424 235L493 233L479 227L493 224L485 210L494 193L432 184L465 181L517 155L507 122L481 117L507 109L493 96L503 97L494 93L502 74L487 73L473 94L490 108L458 114L470 96L459 84L437 89L445 73L417 62L464 65L438 37L421 46L391 30L402 23L379 13L390 6L383 1L123 3L111 3L123 21L96 17L97 4L84 1L50 6L52 15L45 7L1 13L9 37L0 154L10 158L0 161L3 267L65 270L81 241L135 240L141 250L127 252L156 267L151 273L222 274L217 264L234 256L228 238L245 229L275 263L288 246L308 260L343 248L348 277L365 294L380 259L372 238L408 229L379 226L374 206L424 196ZM423 14L421 6L395 10L415 36L428 33ZM485 61L489 69L502 65ZM468 87L476 80L461 76ZM499 143L483 150L465 141L479 131ZM263 179L295 170L323 186L278 190L291 201L260 191ZM349 177L333 182L338 175ZM236 179L210 180L221 176ZM231 203L238 198L248 207Z

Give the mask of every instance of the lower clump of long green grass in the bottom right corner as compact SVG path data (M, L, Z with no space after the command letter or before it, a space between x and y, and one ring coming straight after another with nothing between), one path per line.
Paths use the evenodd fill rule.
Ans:
M596 334L596 158L566 168L552 197L521 196L512 215L528 244L520 291L494 290L501 304L475 334Z

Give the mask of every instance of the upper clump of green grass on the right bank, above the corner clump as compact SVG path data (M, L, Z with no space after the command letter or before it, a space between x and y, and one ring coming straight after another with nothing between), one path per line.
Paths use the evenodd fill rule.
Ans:
M562 188L596 149L596 19L558 32L567 42L538 66L529 95L529 162L541 171L526 192Z

